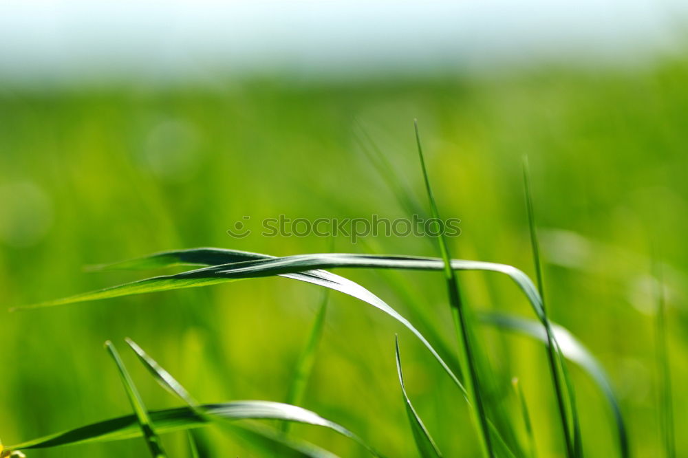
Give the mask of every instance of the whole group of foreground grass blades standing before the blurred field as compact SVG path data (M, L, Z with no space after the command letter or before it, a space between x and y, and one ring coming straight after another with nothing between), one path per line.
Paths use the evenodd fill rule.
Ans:
M417 125L416 140L418 143L418 154L420 157L422 175L431 208L431 216L435 219L436 223L439 223L439 221L442 220L439 217L438 208L432 195ZM312 283L325 287L325 291L335 290L342 292L359 299L367 305L380 309L406 327L416 338L418 338L418 340L420 340L420 342L422 342L422 345L427 348L431 356L433 356L444 372L453 380L455 386L458 387L466 399L466 402L469 404L469 410L475 420L474 423L477 428L477 437L480 440L482 454L485 457L535 456L534 429L530 424L526 401L522 392L517 390L524 426L528 433L528 444L526 446L521 444L519 439L517 439L517 435L514 432L515 427L512 424L512 419L504 403L498 400L495 401L486 395L485 389L491 380L493 380L493 374L491 373L488 359L482 354L480 341L477 339L477 323L483 323L499 329L515 331L524 336L530 336L543 342L547 349L552 383L555 388L555 394L557 395L557 406L559 407L559 417L563 428L564 451L568 458L579 458L582 456L582 437L575 407L573 384L568 375L568 369L564 362L565 358L579 364L579 366L591 376L594 382L598 384L605 399L610 404L610 410L614 417L614 427L619 443L619 455L621 457L627 457L629 451L625 426L620 413L621 410L601 364L599 364L590 352L573 338L566 329L552 324L546 313L543 300L543 282L539 263L537 234L535 232L535 217L533 215L533 204L532 198L530 197L530 185L527 171L524 177L526 184L528 221L530 223L533 258L535 260L535 270L537 274L537 286L526 274L524 274L524 272L510 265L452 259L447 241L444 240L443 237L438 237L437 241L442 255L441 258L343 253L299 254L287 257L273 257L268 254L220 248L192 248L160 252L139 259L94 266L92 270L147 270L168 268L171 266L186 266L191 269L178 274L153 276L140 281L108 287L103 290L77 294L76 296L70 296L56 301L17 308L35 309L51 307L69 303L129 296L132 294L215 285L229 281L254 279L265 276L283 276L288 279ZM402 199L402 202L405 202L409 206L411 206L410 203L413 201L411 197ZM415 204L413 204L413 206L415 206ZM441 233L441 230L438 232ZM455 334L460 347L458 356L451 355L446 347L443 347L441 353L438 352L436 346L431 343L431 340L421 334L405 316L402 316L396 309L385 303L385 301L365 287L326 270L332 268L431 270L443 272L447 292L449 294L449 305L455 325ZM517 285L524 296L526 296L532 312L535 315L535 319L497 313L475 316L475 313L469 307L466 307L466 302L462 298L458 283L457 272L464 270L496 272L508 276L514 281L515 285ZM272 453L272 456L333 456L330 452L287 435L288 426L285 426L287 424L286 422L295 421L325 426L332 430L336 430L338 433L358 441L372 455L379 456L371 447L367 446L365 442L349 430L334 422L323 419L316 413L297 406L297 404L301 403L305 382L308 380L316 347L321 339L326 309L327 296L325 295L323 296L323 301L319 307L319 312L316 315L312 330L308 335L307 344L303 349L303 353L297 363L297 368L294 371L294 377L286 404L266 401L199 404L189 395L189 392L186 391L181 384L179 384L167 371L162 369L162 367L152 358L147 356L147 353L138 347L138 345L132 341L128 341L130 347L136 352L142 364L149 369L155 380L157 380L167 391L170 391L173 395L178 397L179 400L184 402L184 406L163 411L147 411L140 397L138 397L136 388L133 386L133 382L131 382L131 378L127 375L126 369L124 369L121 360L118 358L116 350L109 345L107 348L118 363L120 375L122 375L122 380L127 387L127 393L129 394L129 399L135 411L135 415L109 419L105 422L83 426L64 433L26 441L22 444L17 444L17 446L10 447L8 450L17 450L19 448L26 450L30 448L45 448L93 441L144 437L151 451L151 455L153 457L164 457L165 455L162 451L158 434L167 433L173 430L190 430L198 426L216 423L226 426L230 433L234 433L237 437L249 441L250 444L257 448L267 450L268 453ZM424 315L419 314L418 316ZM424 323L424 327L431 329L431 324ZM437 335L433 333L433 340L437 340L436 336ZM440 356L440 354L444 357ZM424 426L422 419L418 416L416 409L413 408L411 400L407 395L402 374L398 342L396 345L396 362L402 399L405 402L407 415L411 424L411 432L416 441L418 452L422 457L442 456L442 452L440 452L435 441L433 441L429 430ZM248 418L279 419L283 420L285 423L283 423L281 430L272 430L262 426L244 426L232 422L232 420L235 419ZM193 435L189 437L191 454L192 456L197 456L196 441ZM275 455L275 450L279 450L277 455Z

